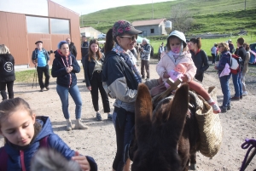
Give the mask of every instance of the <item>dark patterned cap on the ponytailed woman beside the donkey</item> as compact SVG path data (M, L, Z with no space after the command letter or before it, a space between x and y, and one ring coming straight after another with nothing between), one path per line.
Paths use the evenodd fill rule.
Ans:
M143 31L139 31L131 26L131 23L127 20L119 20L113 24L113 37L126 34L135 35L140 34Z

